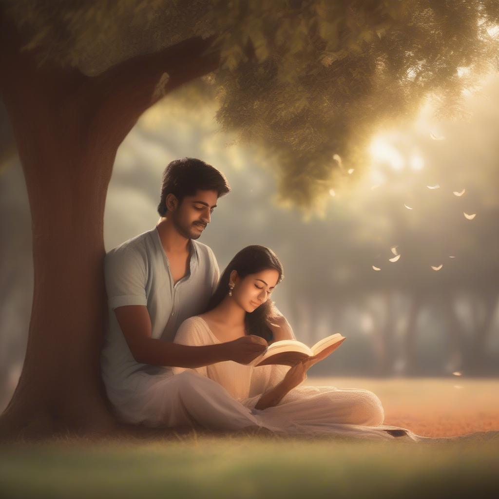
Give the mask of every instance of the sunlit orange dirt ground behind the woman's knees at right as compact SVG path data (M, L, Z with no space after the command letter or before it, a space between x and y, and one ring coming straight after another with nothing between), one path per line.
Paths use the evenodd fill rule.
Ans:
M383 403L384 424L426 437L499 430L497 378L309 377L304 384L370 390Z

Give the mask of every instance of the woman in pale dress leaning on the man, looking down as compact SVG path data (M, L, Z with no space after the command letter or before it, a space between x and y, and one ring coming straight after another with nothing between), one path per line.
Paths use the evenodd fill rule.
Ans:
M264 340L294 339L270 296L282 280L282 265L272 250L249 246L229 263L205 313L185 320L175 342L206 345L246 334ZM323 355L324 356L324 355ZM299 386L312 358L293 367L219 362L196 369L174 367L184 408L174 423L212 429L264 427L284 434L341 434L364 438L427 437L393 426L381 426L379 398L361 389Z

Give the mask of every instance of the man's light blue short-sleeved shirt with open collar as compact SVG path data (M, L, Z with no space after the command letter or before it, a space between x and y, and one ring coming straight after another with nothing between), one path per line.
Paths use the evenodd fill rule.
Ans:
M211 248L191 240L190 271L175 285L156 227L110 250L104 259L109 321L101 352L102 377L109 398L115 390L136 388L133 373L159 373L161 367L137 362L128 348L114 309L145 305L152 337L173 342L188 317L203 313L220 270Z

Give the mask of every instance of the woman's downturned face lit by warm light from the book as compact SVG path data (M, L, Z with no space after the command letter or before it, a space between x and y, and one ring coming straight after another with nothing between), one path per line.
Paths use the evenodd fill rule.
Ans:
M247 312L252 312L268 299L279 278L279 272L275 268L249 274L243 279L235 271L234 274L232 296Z

